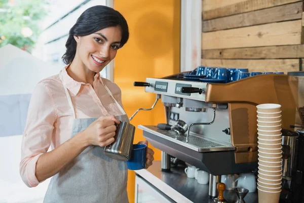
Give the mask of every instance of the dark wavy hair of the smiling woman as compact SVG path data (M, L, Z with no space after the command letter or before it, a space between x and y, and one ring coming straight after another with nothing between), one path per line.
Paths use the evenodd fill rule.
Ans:
M63 62L69 64L75 57L77 42L74 36L87 36L98 30L115 26L120 26L122 30L121 48L129 39L129 28L124 16L106 6L94 6L85 10L69 30L65 43L66 51L62 56Z

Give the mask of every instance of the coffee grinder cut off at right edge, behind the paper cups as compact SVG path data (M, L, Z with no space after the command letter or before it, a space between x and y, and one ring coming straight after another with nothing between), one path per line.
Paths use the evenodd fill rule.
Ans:
M295 124L291 126L294 131L285 133L285 139L282 131L283 179L280 202L301 203L304 202L304 72L289 72L287 75L297 108Z

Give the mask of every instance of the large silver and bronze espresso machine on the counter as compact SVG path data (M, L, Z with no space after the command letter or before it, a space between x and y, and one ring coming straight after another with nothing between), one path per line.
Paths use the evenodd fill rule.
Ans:
M192 164L210 174L209 196L215 197L221 175L251 173L258 166L256 105L281 104L282 128L289 130L295 123L296 105L287 75L258 75L219 84L187 80L183 74L146 78L134 85L155 93L156 102L161 98L167 124L182 120L188 130L138 128L162 151L162 171L170 171L171 156Z

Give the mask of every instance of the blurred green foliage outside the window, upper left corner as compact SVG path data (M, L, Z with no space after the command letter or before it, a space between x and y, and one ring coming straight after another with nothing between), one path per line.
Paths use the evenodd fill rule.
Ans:
M48 0L0 0L0 47L12 44L31 52L48 5Z

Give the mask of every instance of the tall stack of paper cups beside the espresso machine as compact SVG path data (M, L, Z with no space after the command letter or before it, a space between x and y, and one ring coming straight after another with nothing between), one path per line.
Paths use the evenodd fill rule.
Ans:
M281 105L257 107L258 202L278 203L282 184Z

